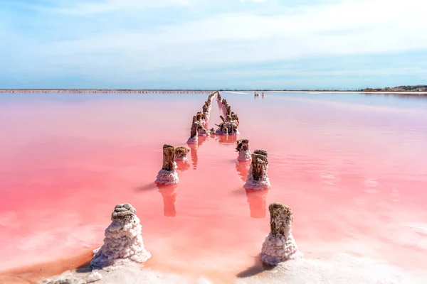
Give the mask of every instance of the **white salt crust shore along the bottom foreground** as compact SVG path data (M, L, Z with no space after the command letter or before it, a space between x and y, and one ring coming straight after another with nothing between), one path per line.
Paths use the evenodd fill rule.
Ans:
M218 283L197 275L196 279L186 273L167 273L153 269L140 268L137 263L113 271L100 271L102 279L97 284L207 284ZM39 284L85 284L88 273L67 271ZM232 284L426 284L427 273L421 271L414 275L401 268L380 263L368 258L354 258L338 255L332 260L295 258L280 263L273 269L243 278L228 279ZM67 281L67 282L65 282Z

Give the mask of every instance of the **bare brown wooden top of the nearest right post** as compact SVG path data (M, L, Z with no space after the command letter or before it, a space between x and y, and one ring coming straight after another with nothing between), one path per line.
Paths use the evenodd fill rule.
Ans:
M268 210L270 211L271 234L285 236L285 231L289 231L292 226L292 209L280 203L272 203Z

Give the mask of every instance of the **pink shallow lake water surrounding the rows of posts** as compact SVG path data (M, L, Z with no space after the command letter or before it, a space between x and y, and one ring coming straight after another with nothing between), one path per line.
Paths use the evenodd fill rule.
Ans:
M151 268L236 277L268 234L268 204L283 202L306 257L427 269L427 100L222 95L239 115L239 137L269 153L269 191L243 189L247 165L233 136L201 139L179 164L176 189L154 185L163 144L186 145L207 95L3 98L0 271L88 253L122 202L137 209ZM210 126L219 114L214 101Z

